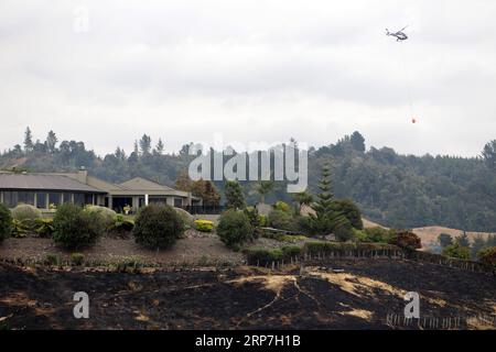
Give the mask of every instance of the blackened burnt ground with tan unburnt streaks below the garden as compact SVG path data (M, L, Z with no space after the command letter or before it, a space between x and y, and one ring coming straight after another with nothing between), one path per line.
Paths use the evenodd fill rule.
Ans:
M74 318L75 292L89 295L89 319ZM424 318L459 317L457 329L495 328L487 319L496 315L495 276L410 261L336 260L325 268L273 273L0 264L0 329L417 329L388 324L388 315L402 315L406 292L420 294Z

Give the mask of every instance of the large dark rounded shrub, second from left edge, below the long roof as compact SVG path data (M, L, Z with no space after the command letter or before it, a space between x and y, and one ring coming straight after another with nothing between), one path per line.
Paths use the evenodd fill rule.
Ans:
M53 240L56 244L76 250L95 244L105 231L99 212L84 211L73 204L58 207L53 219Z

